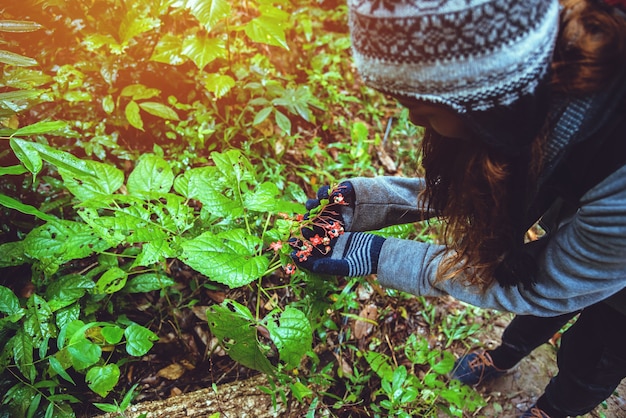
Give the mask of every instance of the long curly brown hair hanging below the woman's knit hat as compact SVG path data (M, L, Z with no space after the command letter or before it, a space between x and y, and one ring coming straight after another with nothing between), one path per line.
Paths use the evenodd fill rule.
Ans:
M579 95L603 88L626 64L626 23L596 0L562 0L560 31L549 84L553 91ZM545 132L545 131L543 131ZM540 171L545 133L537 135L524 162L525 182ZM442 238L447 257L438 279L460 277L481 288L517 239L520 197L513 158L480 140L444 138L427 130L422 142L426 189L420 196L446 218ZM519 174L518 174L519 176ZM519 180L519 179L518 179Z

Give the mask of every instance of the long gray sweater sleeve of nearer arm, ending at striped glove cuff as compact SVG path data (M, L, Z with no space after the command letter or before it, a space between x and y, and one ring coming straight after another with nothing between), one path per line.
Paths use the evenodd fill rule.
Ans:
M554 316L600 302L626 287L626 167L588 191L577 213L547 239L531 288L494 284L481 291L463 277L436 282L442 247L392 238L381 250L378 280L415 295L449 294L519 315Z

